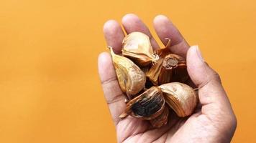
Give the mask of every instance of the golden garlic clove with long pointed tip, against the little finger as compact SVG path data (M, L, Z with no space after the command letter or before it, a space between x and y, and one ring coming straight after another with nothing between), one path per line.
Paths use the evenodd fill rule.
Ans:
M110 47L112 61L116 70L116 77L122 92L127 94L129 99L139 93L144 87L146 76L144 72L130 59L114 54Z

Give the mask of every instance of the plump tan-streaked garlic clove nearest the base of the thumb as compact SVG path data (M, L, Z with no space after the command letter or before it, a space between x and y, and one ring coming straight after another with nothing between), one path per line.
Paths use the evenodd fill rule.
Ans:
M198 102L195 90L180 82L171 82L159 86L165 97L165 102L174 110L178 117L192 114Z

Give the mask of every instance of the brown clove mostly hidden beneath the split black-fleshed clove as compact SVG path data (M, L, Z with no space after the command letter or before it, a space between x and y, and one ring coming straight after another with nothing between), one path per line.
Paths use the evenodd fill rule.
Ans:
M169 109L168 109L168 107L165 106L163 113L160 114L155 119L151 119L150 124L152 124L152 127L160 128L163 125L167 124L168 116L169 116Z

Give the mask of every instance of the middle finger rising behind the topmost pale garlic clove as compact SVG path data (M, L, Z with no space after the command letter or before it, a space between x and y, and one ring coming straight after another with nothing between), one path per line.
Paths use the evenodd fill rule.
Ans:
M127 14L122 18L122 25L124 26L125 31L127 31L127 34L130 34L134 31L140 31L144 34L147 34L147 36L150 37L150 42L152 44L153 49L157 49L159 46L157 44L157 41L153 38L152 34L150 33L150 30L147 28L147 26L143 23L140 18L135 14Z

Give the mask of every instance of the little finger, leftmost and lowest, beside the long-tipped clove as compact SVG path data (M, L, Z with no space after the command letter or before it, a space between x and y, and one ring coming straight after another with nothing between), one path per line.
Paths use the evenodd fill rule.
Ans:
M119 115L122 114L126 107L124 103L125 97L119 88L111 56L108 53L104 52L99 55L98 69L106 103L109 105L114 123L117 124L119 122Z

